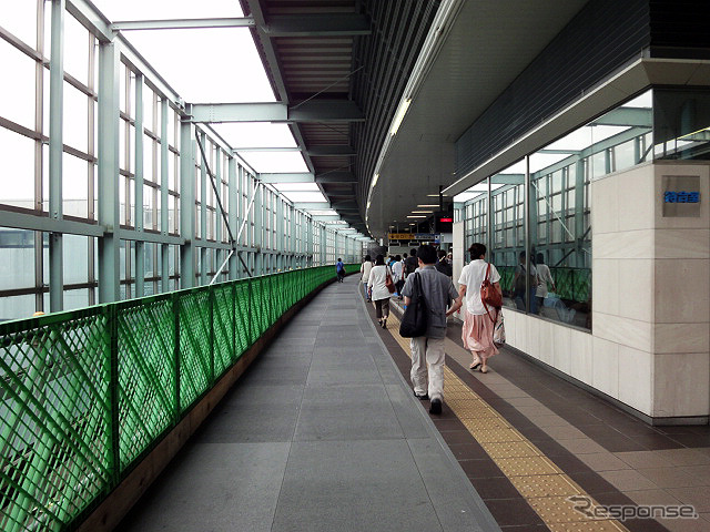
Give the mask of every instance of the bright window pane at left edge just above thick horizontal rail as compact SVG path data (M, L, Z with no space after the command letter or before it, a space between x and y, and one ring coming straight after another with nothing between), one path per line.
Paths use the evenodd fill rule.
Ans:
M34 208L34 141L0 126L0 203Z

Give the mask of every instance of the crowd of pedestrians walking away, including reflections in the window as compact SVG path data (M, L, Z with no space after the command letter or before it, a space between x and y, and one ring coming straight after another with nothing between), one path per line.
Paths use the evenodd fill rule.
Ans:
M383 328L387 328L389 317L389 299L396 294L404 299L405 309L412 304L415 290L426 301L427 324L422 336L410 338L412 350L410 379L414 395L420 400L429 400L429 412L442 413L444 401L444 364L447 317L462 310L464 325L462 340L464 347L471 352L469 366L471 370L488 372L488 359L498 352L494 341L494 329L499 308L490 308L481 299L481 286L487 280L497 291L500 300L500 274L495 265L486 262L486 246L475 243L468 248L470 262L466 264L458 278L458 290L453 283L452 256L430 245L413 248L410 254L396 255L385 262L383 255L377 255L372 262L369 255L361 266L361 279L366 300L374 301L377 320ZM555 282L549 267L544 264L542 255L537 255L537 262L529 265L526 272L526 255L519 255L520 263L516 268L511 296L516 305L525 305L529 296L531 311L541 306L541 299L547 296L548 288L555 290ZM338 259L339 260L339 259ZM526 278L527 277L527 278ZM415 286L416 283L416 286ZM394 284L390 291L388 285ZM526 294L527 293L527 294Z

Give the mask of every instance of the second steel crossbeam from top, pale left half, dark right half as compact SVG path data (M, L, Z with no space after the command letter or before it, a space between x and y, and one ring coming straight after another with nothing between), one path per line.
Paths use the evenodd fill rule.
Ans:
M194 103L193 122L364 122L365 115L349 100L311 100L298 105L285 103Z

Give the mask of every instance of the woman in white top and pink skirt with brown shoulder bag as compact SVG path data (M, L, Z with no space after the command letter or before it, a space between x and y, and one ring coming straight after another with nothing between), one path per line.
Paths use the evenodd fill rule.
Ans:
M493 308L486 309L480 299L480 285L488 275L490 284L498 290L498 294L503 295L499 283L500 274L493 264L486 263L485 245L473 244L468 252L470 253L470 263L464 268L458 279L460 301L464 298L466 300L462 340L464 347L474 356L470 369L480 368L481 374L487 374L488 359L498 352L498 348L493 341L496 311Z

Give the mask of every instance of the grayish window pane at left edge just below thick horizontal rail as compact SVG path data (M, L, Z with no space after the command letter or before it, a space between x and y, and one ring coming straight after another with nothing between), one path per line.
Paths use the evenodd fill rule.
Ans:
M33 286L34 232L0 227L0 290Z

